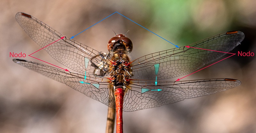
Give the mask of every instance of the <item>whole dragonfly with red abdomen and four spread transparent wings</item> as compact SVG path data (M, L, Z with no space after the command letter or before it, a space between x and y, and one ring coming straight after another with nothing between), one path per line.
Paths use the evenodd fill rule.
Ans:
M192 43L190 47L168 49L131 60L133 44L124 34L111 38L108 53L103 53L62 35L26 13L18 12L16 20L39 46L70 71L23 59L13 61L115 108L117 133L123 132L123 111L159 107L241 84L239 80L228 78L172 81L233 50L244 39L240 31L224 32Z

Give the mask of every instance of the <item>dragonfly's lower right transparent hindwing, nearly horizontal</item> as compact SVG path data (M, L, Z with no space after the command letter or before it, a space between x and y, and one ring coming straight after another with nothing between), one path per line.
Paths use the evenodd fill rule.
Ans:
M184 99L214 94L241 84L234 79L208 79L191 81L133 80L124 95L124 111L154 108ZM160 89L160 91L158 91Z

